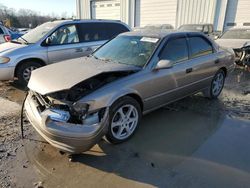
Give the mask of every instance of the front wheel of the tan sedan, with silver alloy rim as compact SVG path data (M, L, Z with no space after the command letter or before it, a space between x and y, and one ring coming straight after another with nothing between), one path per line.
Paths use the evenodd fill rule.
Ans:
M111 106L109 117L106 139L112 144L119 144L136 132L141 120L141 107L135 99L123 97Z

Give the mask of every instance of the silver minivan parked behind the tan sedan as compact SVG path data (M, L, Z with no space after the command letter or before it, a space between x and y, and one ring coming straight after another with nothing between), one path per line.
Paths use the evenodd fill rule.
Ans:
M0 45L0 80L15 77L26 85L41 66L87 56L130 28L112 20L60 20L44 23L9 43Z

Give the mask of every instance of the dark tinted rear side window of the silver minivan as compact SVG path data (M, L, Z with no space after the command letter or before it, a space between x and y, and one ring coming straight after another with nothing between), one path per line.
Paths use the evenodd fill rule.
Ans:
M109 40L128 31L125 26L114 23L82 23L78 24L78 30L81 42Z

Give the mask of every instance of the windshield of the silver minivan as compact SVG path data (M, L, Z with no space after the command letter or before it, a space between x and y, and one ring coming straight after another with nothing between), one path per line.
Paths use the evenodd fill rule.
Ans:
M32 29L30 32L23 35L18 40L24 40L27 43L36 43L42 39L51 29L57 26L59 22L47 22L44 23L35 29Z

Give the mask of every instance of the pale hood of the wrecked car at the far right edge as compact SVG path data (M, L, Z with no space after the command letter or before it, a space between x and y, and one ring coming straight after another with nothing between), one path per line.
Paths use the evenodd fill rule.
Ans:
M244 46L250 45L250 40L247 39L217 39L215 42L217 42L217 44L222 47L233 49L242 48Z

